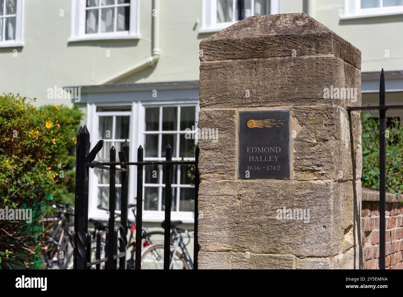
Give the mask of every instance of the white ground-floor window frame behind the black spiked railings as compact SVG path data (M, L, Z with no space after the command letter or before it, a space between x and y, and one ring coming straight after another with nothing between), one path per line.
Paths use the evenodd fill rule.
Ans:
M155 98L154 98L155 99ZM105 107L105 106L115 106L120 107L122 105L131 105L131 111L96 111L97 107ZM100 115L129 115L130 114L130 134L129 134L129 159L130 161L134 162L137 161L137 148L139 145L145 148L145 108L147 107L172 107L172 106L195 106L195 129L197 129L197 119L199 114L199 101L195 99L188 99L188 100L152 100L146 102L132 102L132 103L113 103L113 104L104 104L104 103L87 103L87 126L90 129L90 141L91 141L91 148L98 142L98 124L99 124L99 116ZM178 109L180 114L180 109ZM160 115L161 117L161 115ZM179 118L178 123L180 124ZM190 128L190 127L189 127ZM178 128L179 129L179 128ZM169 131L164 131L164 133ZM172 131L173 133L177 133L177 131ZM197 135L196 135L197 137ZM177 139L178 143L178 139ZM195 139L195 143L197 143L197 139ZM102 148L105 149L105 148ZM179 146L174 148L179 150ZM118 153L116 153L116 156ZM194 158L184 158L185 160L194 160ZM165 160L165 158L159 157L144 157L144 160ZM172 157L172 161L178 161L181 158ZM179 166L177 166L179 167ZM91 169L89 168L89 218L94 218L98 220L108 220L108 215L106 211L98 209L97 206L99 204L98 201L98 176L95 174L95 170L101 169ZM129 203L136 203L134 197L136 196L137 190L137 170L135 166L130 166L130 173L129 173ZM177 168L177 180L180 174L180 168ZM143 175L143 199L145 195L144 186L159 186L159 184L145 184L145 175ZM162 178L160 178L160 183L162 183ZM192 186L188 185L179 185L177 182L172 182L172 188L174 187L181 187L181 188L189 188ZM118 188L118 187L116 187ZM164 197L160 196L161 190L159 190L159 199L161 203L163 203ZM176 199L179 199L179 191L176 191ZM144 201L143 201L143 221L144 222L162 222L164 220L164 211L161 210L162 204L159 203L159 210L158 211L151 211L151 210L144 210ZM175 203L177 205L177 203ZM118 212L118 211L117 211ZM128 211L129 219L134 220L134 215L132 211ZM171 212L171 220L181 220L184 223L193 223L194 222L194 212L193 211L179 211L179 208L176 211Z

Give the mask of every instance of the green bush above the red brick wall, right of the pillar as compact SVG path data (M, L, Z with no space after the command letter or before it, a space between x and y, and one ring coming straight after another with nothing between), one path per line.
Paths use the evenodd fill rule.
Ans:
M376 113L372 111L372 113ZM379 190L379 120L372 113L361 113L362 186ZM377 115L377 114L376 114ZM377 115L378 116L378 115ZM403 127L397 119L388 121L386 132L386 190L403 191Z

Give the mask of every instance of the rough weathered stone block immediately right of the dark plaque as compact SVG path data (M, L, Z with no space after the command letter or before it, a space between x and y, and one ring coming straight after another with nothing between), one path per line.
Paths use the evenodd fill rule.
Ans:
M361 177L361 121L352 114L355 176ZM338 107L294 107L291 129L294 178L351 180L353 162L348 114Z

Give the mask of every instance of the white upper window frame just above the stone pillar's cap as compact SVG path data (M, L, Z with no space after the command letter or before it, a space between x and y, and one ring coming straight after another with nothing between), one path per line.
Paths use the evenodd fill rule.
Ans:
M236 1L233 0L233 19L235 19L235 5ZM252 1L251 16L254 15L254 1ZM275 15L280 13L280 0L270 1L270 14ZM217 23L217 0L203 0L202 2L202 28L199 33L214 33L229 27L238 21Z

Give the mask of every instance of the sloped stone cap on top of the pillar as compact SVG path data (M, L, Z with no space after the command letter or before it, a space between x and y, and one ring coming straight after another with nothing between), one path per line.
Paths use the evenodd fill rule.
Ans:
M334 55L361 69L361 51L305 13L248 17L200 42L201 61Z

